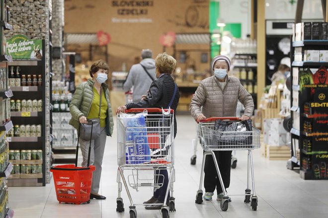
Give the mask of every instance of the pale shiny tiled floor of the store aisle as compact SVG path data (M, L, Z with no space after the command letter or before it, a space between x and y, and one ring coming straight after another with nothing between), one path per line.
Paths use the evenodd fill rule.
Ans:
M327 218L328 181L305 181L295 171L286 169L286 161L269 161L261 156L260 149L253 151L255 188L258 196L257 211L244 204L243 196L232 196L227 212L220 203L195 204L199 186L202 150L199 146L196 165L190 165L193 153L191 139L196 124L188 115L177 117L178 134L175 139L174 197L176 212L171 218ZM115 131L116 134L116 131ZM129 218L129 201L123 187L124 213L116 212L117 154L116 136L107 139L103 160L100 193L105 201L91 200L88 205L59 204L51 181L46 187L10 187L9 206L15 218ZM246 188L247 152L237 152L237 168L232 169L229 193L243 193ZM204 191L204 190L203 190ZM136 203L151 197L150 188L138 193L131 190ZM137 206L138 218L161 218L160 211L147 211Z

